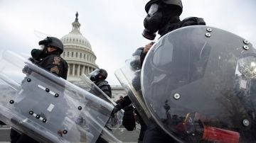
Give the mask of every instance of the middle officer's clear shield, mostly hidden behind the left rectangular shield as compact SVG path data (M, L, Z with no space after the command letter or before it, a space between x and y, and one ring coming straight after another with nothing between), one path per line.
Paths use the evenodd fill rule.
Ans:
M98 86L96 86L85 74L80 76L80 81L75 81L73 84L80 86L92 93L93 95L102 98L104 101L111 103L112 105L117 105L112 98L106 95ZM110 116L105 126L105 132L102 133L102 137L108 142L118 142L119 140L114 137L112 133L118 131L120 125L122 125L122 117L124 116L124 110L119 110L114 116ZM106 132L109 131L109 132ZM111 133L111 134L110 134Z

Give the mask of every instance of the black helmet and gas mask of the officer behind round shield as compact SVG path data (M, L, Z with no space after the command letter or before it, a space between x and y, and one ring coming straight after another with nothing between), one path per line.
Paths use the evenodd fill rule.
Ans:
M168 22L176 23L182 13L181 0L151 0L145 6L144 38L154 40L156 32Z

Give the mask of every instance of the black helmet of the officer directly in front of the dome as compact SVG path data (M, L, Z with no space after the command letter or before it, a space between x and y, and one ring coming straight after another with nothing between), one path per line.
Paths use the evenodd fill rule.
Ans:
M59 40L58 38L47 37L46 39L39 41L38 44L45 45L46 47L48 46L57 47L58 50L60 51L60 54L63 53L63 42L61 42L61 40Z

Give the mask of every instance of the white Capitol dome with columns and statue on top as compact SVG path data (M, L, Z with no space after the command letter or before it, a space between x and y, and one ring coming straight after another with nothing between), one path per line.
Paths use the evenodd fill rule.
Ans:
M72 30L60 39L64 45L61 56L68 62L68 81L71 82L79 81L82 74L88 75L99 68L90 42L80 33L78 13L75 16Z

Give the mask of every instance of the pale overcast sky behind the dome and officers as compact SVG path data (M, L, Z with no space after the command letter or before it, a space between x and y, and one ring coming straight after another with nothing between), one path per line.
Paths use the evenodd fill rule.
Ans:
M0 49L29 55L44 38L41 33L57 38L67 35L78 11L80 32L92 45L96 64L108 71L110 84L119 84L114 71L137 47L150 42L142 36L144 4L145 0L0 0ZM255 15L255 0L187 0L183 1L181 20L201 17L207 25L228 30L255 45Z

